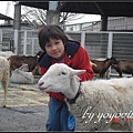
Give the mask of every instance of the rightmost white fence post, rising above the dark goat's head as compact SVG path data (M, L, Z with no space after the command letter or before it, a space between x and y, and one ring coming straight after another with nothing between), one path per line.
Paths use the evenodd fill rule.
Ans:
M112 42L113 42L113 33L109 32L108 58L112 57Z

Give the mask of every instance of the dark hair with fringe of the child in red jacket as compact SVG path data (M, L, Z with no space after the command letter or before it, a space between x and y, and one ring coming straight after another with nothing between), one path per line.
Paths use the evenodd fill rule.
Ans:
M50 38L61 39L64 44L68 41L68 37L59 25L44 25L39 31L39 45L43 51L45 51L44 45L50 41Z

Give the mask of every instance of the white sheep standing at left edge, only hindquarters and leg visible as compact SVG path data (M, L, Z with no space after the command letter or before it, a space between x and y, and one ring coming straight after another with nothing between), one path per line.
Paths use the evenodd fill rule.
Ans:
M4 91L4 99L2 103L3 108L6 108L6 103L7 103L9 76L10 76L9 61L4 57L0 57L0 82Z

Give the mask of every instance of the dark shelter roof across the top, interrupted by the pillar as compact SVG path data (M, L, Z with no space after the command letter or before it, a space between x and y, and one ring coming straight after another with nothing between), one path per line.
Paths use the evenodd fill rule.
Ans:
M103 17L133 17L133 1L127 2L96 2L95 1L59 1L58 10L61 12L75 12L88 14L100 14ZM20 4L49 10L49 1L21 1Z

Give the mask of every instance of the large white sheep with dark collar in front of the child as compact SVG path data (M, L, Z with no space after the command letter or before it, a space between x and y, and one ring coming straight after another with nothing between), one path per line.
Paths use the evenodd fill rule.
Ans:
M85 70L73 70L63 63L55 63L38 81L38 88L62 92L66 96L80 131L109 131L112 119L116 116L121 117L121 124L125 124L127 114L133 111L133 78L80 83L76 75L83 72ZM127 130L133 130L132 117L133 114Z

